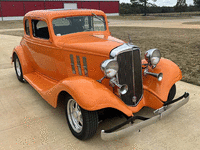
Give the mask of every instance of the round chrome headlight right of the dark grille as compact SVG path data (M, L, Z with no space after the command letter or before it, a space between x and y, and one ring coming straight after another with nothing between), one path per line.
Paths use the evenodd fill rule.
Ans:
M145 59L151 65L157 65L160 61L161 54L158 49L150 49L145 53Z

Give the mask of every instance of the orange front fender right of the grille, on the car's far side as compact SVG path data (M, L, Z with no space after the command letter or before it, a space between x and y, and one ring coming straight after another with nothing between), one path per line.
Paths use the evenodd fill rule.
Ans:
M142 63L147 63L146 60L142 60ZM144 70L143 70L144 72ZM156 96L161 101L167 101L169 91L171 87L182 78L182 73L179 67L168 59L161 58L156 68L149 67L149 72L163 73L162 81L158 81L157 78L151 75L143 75L143 88L149 93ZM148 100L148 99L147 99Z

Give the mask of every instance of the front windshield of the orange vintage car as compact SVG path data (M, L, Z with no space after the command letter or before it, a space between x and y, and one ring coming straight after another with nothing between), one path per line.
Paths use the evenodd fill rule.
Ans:
M63 17L52 21L54 33L56 36L62 36L70 33L105 31L105 19L103 16L78 16Z

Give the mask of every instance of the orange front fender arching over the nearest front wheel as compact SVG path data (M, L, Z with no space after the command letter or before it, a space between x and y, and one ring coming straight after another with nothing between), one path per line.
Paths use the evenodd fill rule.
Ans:
M53 107L57 106L61 91L68 92L77 103L89 111L103 108L115 108L127 116L133 116L128 106L103 84L83 76L69 77L60 81L53 88L43 93Z

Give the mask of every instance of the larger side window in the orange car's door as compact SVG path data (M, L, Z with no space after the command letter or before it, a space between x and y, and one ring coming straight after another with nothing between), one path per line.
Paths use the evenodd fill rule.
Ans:
M42 39L49 39L48 26L45 21L32 20L33 36Z

